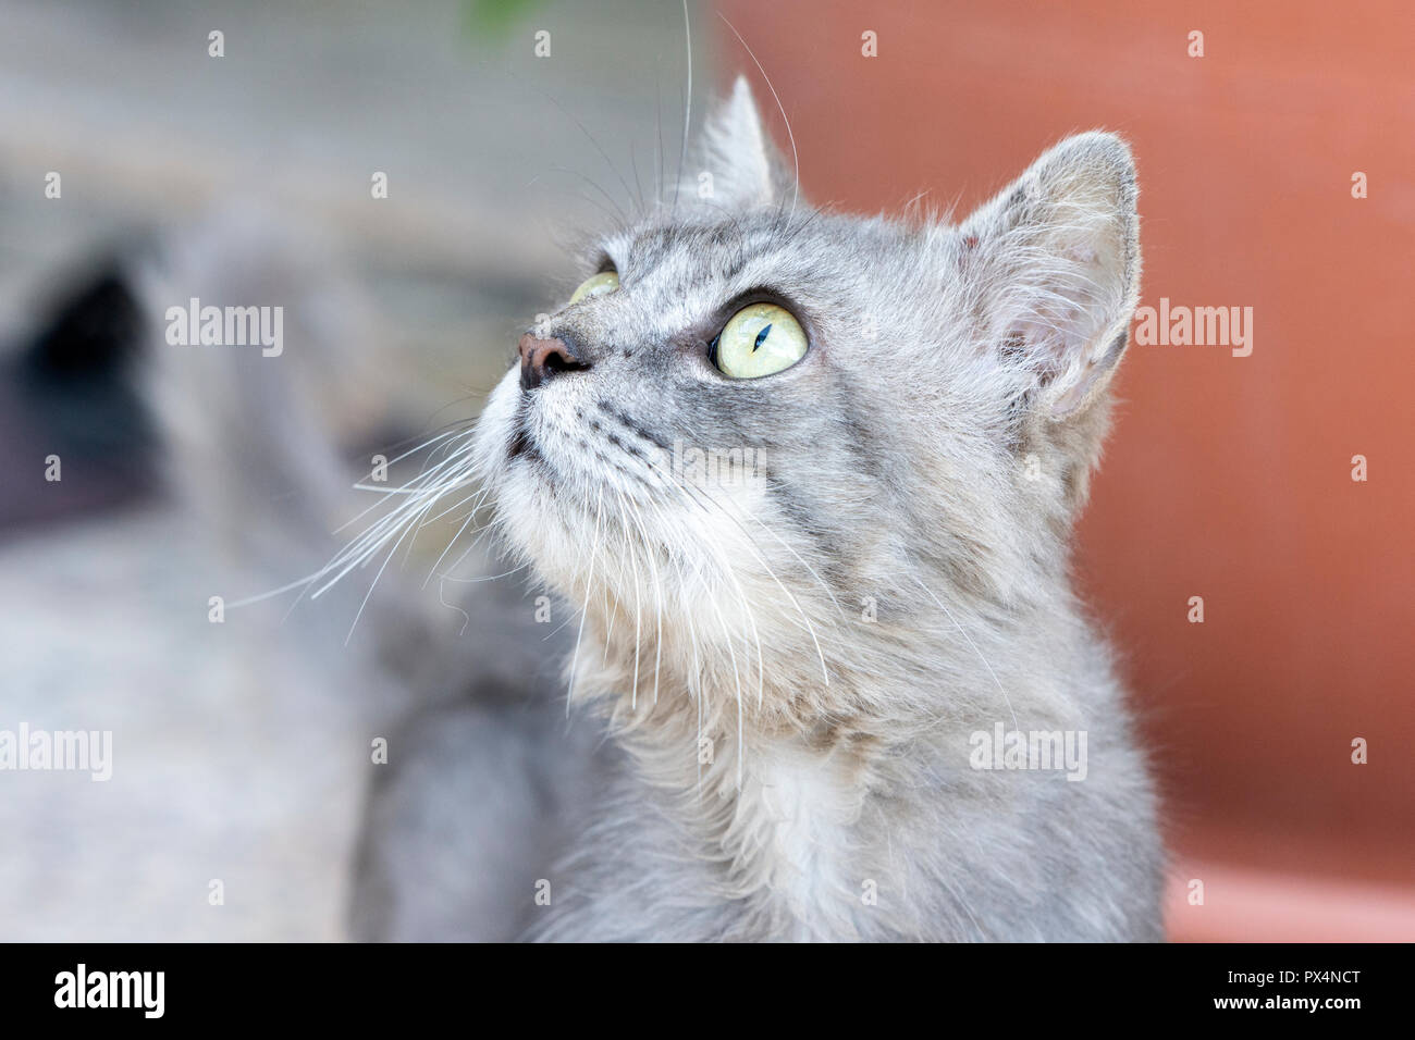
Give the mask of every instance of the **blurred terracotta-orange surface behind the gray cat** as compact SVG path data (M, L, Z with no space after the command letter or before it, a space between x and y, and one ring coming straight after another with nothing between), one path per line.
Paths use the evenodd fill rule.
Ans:
M1080 532L1162 773L1170 934L1415 938L1415 8L720 8L816 202L897 212L928 190L961 216L1067 133L1129 139L1142 306L1254 310L1247 358L1132 344ZM709 17L722 83L749 72L785 147L753 58Z

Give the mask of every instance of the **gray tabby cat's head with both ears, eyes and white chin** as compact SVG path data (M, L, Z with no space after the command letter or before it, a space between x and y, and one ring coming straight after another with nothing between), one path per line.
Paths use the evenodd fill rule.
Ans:
M908 576L1034 599L1128 342L1135 204L1129 149L1087 133L958 225L812 209L739 79L494 391L475 453L504 538L659 657L691 632L682 654L815 658Z

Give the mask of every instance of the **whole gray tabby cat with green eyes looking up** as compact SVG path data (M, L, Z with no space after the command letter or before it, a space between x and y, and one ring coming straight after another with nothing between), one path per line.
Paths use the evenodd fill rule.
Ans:
M451 453L570 664L516 682L526 624L524 671L395 739L357 934L1159 940L1153 785L1067 573L1128 147L1070 137L961 225L836 215L739 81L685 174Z

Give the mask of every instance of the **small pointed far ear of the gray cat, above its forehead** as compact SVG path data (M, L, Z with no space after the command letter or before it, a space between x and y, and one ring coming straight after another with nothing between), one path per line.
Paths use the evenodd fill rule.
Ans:
M709 115L679 194L722 209L774 205L791 175L767 136L746 76Z

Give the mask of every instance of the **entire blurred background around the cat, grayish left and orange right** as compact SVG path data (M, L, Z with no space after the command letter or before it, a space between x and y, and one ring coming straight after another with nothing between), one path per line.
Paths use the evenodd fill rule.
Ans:
M250 508L294 508L297 467L279 494L201 488L226 440L154 450L212 417L184 413L192 386L228 429L248 415L209 374L164 369L154 416L136 399L144 357L173 364L154 287L287 301L259 392L313 400L352 481L475 415L576 236L671 174L691 52L695 112L749 74L804 191L849 211L962 215L1067 133L1131 140L1142 304L1254 316L1249 357L1132 345L1081 528L1162 775L1170 937L1415 940L1412 8L688 16L691 40L652 0L0 0L0 729L115 746L106 784L0 774L0 938L342 937L369 741L409 707L381 676L412 641L350 631L371 576L208 623L209 596L323 563L291 528L333 525ZM340 494L330 515L362 508ZM457 635L427 600L403 606Z

